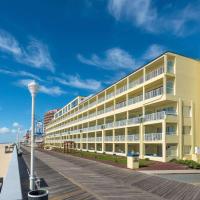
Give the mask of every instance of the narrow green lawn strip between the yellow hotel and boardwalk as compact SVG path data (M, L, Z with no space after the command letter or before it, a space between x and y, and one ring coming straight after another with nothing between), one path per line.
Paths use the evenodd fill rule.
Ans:
M93 160L99 160L102 162L108 162L108 163L114 164L114 165L119 164L119 165L123 165L124 167L126 167L126 165L127 165L127 158L123 157L123 156L93 153L93 152L87 152L87 151L74 151L74 152L70 152L68 154L83 157L83 158L93 159ZM153 161L146 160L146 159L139 160L140 167L147 167L147 166L151 165L152 163L153 163Z

